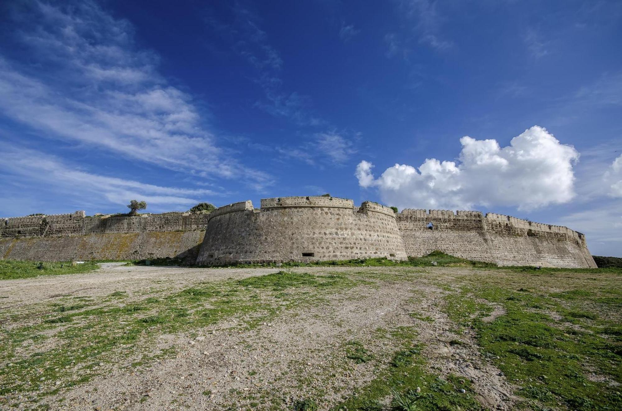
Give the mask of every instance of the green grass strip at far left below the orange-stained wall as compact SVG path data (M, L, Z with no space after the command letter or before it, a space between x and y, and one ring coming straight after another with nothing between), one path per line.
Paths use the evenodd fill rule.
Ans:
M36 261L0 260L0 280L88 273L100 268L93 261L72 266L71 261L39 263Z

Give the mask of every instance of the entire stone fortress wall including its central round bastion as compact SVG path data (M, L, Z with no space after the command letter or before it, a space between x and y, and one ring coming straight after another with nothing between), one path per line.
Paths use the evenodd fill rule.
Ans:
M373 202L355 207L336 197L262 199L260 209L244 201L211 214L85 217L79 211L0 219L0 258L12 260L404 260L434 250L501 266L596 267L585 235L567 227L478 211L395 214Z

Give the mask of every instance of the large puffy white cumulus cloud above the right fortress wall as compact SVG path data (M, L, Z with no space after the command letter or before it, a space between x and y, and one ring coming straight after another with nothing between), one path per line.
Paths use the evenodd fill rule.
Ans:
M400 208L473 209L516 206L521 210L569 202L575 195L573 163L579 153L535 125L507 147L496 140L460 138L458 161L427 158L419 168L396 164L374 178L361 161L361 187L376 187L384 202Z

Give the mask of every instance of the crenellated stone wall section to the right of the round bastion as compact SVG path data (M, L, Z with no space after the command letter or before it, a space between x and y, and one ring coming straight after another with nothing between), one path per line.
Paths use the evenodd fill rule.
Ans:
M405 209L396 217L409 256L440 250L499 266L596 268L585 235L567 227L479 211Z

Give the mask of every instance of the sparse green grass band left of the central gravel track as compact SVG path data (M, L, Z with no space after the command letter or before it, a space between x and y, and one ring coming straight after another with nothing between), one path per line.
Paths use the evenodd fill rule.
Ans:
M239 281L198 283L168 296L147 297L127 305L111 301L109 296L99 305L91 302L80 310L78 305L46 304L35 317L29 312L27 318L34 322L4 328L0 333L0 362L13 364L0 369L0 395L45 397L97 376L106 368L98 365L102 362L123 363L124 358L142 350L150 351L157 335L189 332L234 316L244 318L241 327L256 327L281 310L313 304L324 294L361 283L345 276L281 271ZM262 298L257 289L262 289ZM283 290L287 291L285 297L276 299ZM54 349L37 350L37 344L50 336L57 340ZM34 353L18 355L24 350ZM142 366L156 358L158 355L143 355L131 363ZM50 386L54 381L61 384Z

